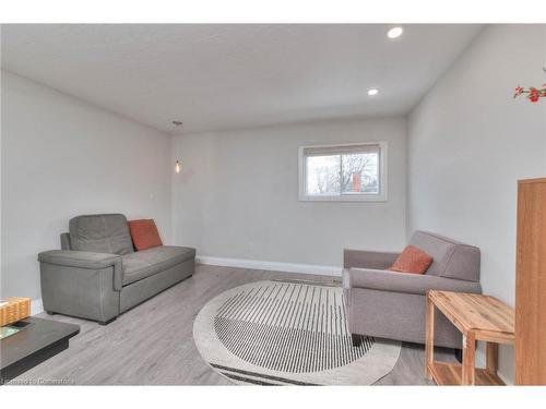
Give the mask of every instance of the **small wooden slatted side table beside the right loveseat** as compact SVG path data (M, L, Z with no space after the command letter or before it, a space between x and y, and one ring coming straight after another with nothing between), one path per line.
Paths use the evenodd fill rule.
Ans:
M435 309L463 334L463 364L434 360ZM438 385L505 385L497 375L498 344L514 342L514 310L495 297L427 292L426 376ZM476 341L487 342L486 368L475 368Z

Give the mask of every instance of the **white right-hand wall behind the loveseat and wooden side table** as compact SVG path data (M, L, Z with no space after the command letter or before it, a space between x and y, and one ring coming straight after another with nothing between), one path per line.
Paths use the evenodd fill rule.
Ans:
M512 99L541 85L545 31L487 27L408 119L408 228L482 250L484 292L514 303L517 180L544 177L545 101ZM512 378L512 349L500 372Z

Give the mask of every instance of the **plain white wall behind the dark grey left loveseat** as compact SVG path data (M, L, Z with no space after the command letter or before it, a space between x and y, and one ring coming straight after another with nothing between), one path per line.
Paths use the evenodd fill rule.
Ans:
M2 298L40 298L36 255L73 216L155 218L170 241L169 137L4 71L1 96Z

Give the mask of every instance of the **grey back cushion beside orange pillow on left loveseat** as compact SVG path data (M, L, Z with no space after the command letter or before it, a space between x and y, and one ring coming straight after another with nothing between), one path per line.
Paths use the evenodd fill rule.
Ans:
M95 253L130 254L133 242L123 215L84 215L70 220L72 250Z

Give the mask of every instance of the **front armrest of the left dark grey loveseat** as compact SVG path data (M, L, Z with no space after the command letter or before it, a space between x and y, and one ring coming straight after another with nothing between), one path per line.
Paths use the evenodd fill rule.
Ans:
M112 267L114 289L120 291L122 287L122 262L121 256L117 254L74 250L50 250L39 253L38 262L86 269Z

